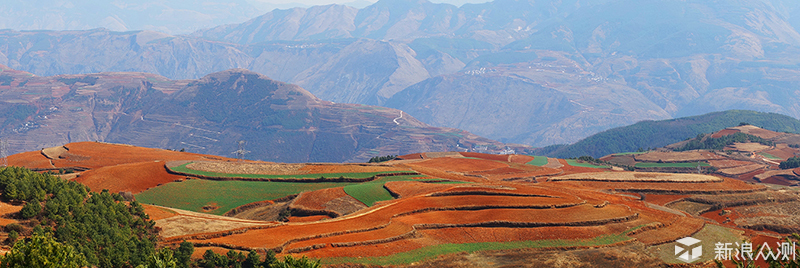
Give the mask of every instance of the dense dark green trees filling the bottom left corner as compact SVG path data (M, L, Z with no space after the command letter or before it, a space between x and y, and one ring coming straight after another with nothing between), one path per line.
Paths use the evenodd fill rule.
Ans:
M269 252L261 261L256 252L226 255L208 250L191 260L194 246L183 242L176 249L156 249L157 229L136 201L125 202L116 193L93 193L88 187L49 173L25 168L0 169L0 199L23 204L9 224L10 252L0 256L6 267L319 267L319 261L287 256L280 260ZM27 237L18 239L18 237Z

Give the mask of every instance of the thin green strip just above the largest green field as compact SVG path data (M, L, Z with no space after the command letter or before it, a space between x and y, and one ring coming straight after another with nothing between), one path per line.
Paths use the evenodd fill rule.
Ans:
M206 176L212 178L248 178L248 179L314 179L319 177L325 178L353 178L353 179L362 179L362 178L369 178L375 175L380 174L389 174L389 173L400 173L400 172L414 172L411 170L396 170L396 171L383 171L383 172L357 172L357 173L312 173L312 174L300 174L300 175L264 175L264 174L232 174L232 173L217 173L217 172L208 172L208 171L200 171L187 168L186 165L191 163L186 163L177 167L170 168L173 171L192 174L192 175L199 175L199 176Z

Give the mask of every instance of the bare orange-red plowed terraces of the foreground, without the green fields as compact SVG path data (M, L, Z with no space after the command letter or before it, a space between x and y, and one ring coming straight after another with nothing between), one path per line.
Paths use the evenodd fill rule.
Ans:
M92 142L68 144L66 148L69 151L48 150L55 167L90 168L76 180L94 191L130 191L142 203L169 206L145 205L162 229L162 246L174 246L186 239L196 244L197 257L202 255L198 251L205 249L223 254L229 248L259 253L274 249L281 254L331 258L323 260L326 263L404 264L478 250L568 250L633 239L658 245L695 234L706 220L727 220L708 213L704 215L710 219L687 215L674 209L681 209L675 205L664 207L680 199L687 206L736 206L731 209L736 216L725 224L731 228L756 228L767 221L789 225L800 222L800 217L793 216L797 214L797 201L792 200L796 199L786 197L794 196L792 192L776 194L762 185L717 176L574 166L563 159L543 158L552 167L545 168L527 164L535 158L524 155L434 152L382 164L275 164L227 163L229 159L213 156ZM420 158L423 156L426 159ZM650 152L626 157L667 164L709 161L721 170L752 165L710 152ZM16 155L10 160L26 162L30 167L52 167L41 152ZM198 170L237 174L318 177L415 171L428 178L379 176L370 182L185 180L186 176L167 172L168 161L174 166L196 162L192 167ZM785 172L782 175L794 174ZM764 176L775 178L770 175L778 174ZM524 179L531 177L537 180ZM287 198L295 194L299 195ZM277 199L280 201L276 203L265 202ZM747 204L736 203L740 201ZM284 223L209 214L222 214L254 202L266 205L257 208L261 213L257 219L274 220L287 209L295 215ZM754 202L757 204L750 204ZM243 208L247 207L250 205ZM8 209L13 212L20 208ZM392 261L373 259L381 256Z

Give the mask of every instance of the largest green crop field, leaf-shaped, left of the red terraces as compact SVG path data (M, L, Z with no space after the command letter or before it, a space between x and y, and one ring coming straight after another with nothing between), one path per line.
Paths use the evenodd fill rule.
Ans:
M206 205L214 205L219 208L210 213L222 215L241 205L278 199L301 192L372 183L378 184L382 189L383 184L389 181L413 180L421 177L423 176L382 177L367 183L187 180L170 182L148 189L137 194L136 200L144 204L155 204L197 212L203 212L202 208ZM391 199L391 195L389 199Z

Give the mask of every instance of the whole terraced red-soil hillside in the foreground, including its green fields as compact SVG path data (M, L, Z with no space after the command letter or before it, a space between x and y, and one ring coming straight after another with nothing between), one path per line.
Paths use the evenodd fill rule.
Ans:
M742 239L772 243L797 232L800 220L796 191L528 155L422 152L374 164L283 164L77 142L12 155L9 162L52 172L85 167L58 176L77 176L69 183L94 194L135 199L133 206L142 204L137 211L155 221L158 247L193 245L193 254L182 252L195 261L189 267L215 258L207 250L223 259L230 250L272 251L278 258L305 255L347 267L449 268L470 261L562 267L552 259L565 257L566 266L662 267L679 262L671 254L676 239L691 235L707 248ZM31 177L9 170L0 168L4 182ZM7 196L8 189L21 189L30 206L35 192L17 184L0 184L0 190ZM48 198L45 207L61 199ZM3 213L4 220L19 222L13 212ZM64 227L63 221L51 224ZM56 236L76 243L71 238ZM238 266L245 258L234 251L229 264ZM127 256L117 257L124 262Z

